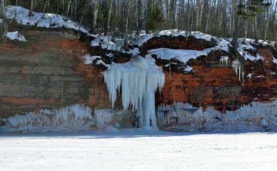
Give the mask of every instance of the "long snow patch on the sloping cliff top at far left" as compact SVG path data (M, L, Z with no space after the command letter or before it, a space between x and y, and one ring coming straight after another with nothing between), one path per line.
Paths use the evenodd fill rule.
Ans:
M29 16L30 11L20 6L7 6L6 9L6 17L8 19L15 18L19 24L45 28L65 27L67 29L80 30L87 34L89 33L85 28L80 26L79 23L72 20L66 20L65 17L61 15L33 12L33 15Z

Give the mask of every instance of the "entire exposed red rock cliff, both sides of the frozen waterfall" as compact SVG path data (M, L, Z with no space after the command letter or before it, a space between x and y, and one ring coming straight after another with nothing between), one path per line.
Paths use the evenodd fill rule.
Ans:
M89 41L65 33L26 32L25 37L28 43L8 41L0 45L0 117L75 103L86 103L92 109L111 107L101 74L105 67L84 64L82 59L85 54L105 56L106 51L92 48ZM150 40L142 46L141 54L152 48L168 47L167 39ZM212 44L180 37L170 41L175 42L174 48L195 50ZM244 76L244 82L238 80L230 62L228 66L219 62L223 55L233 60L232 54L223 51L190 60L188 64L193 72L180 72L178 66L173 65L171 78L168 68L164 67L166 81L161 96L156 95L156 105L175 101L214 106L225 112L252 101L277 99L277 76L272 74L277 70L272 62L272 49L258 47L257 53L265 59L244 61L245 75L253 75L252 78ZM115 62L129 58L128 55L120 58L118 54ZM157 64L164 66L167 61L157 59ZM121 108L119 96L115 107Z

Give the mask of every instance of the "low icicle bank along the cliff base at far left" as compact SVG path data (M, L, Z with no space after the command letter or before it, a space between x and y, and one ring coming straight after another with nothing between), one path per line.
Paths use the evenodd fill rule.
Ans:
M63 130L88 130L94 124L92 111L83 105L72 105L55 110L40 110L39 113L15 115L3 119L5 126L0 131L47 132Z

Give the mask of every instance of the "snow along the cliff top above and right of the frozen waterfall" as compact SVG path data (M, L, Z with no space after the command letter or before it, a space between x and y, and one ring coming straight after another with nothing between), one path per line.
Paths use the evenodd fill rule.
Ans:
M133 41L130 40L128 42L130 45L136 45L138 47L141 47L144 43L149 41L152 38L155 37L161 37L161 36L192 36L196 39L202 39L205 41L216 41L215 47L207 48L204 50L188 50L188 49L169 49L169 48L158 48L158 49L151 49L148 51L147 55L157 55L157 58L161 59L177 59L180 62L183 62L186 64L186 62L189 59L196 59L199 56L207 56L210 52L213 50L222 50L229 53L229 48L232 48L231 41L232 39L228 38L218 38L209 34L201 33L198 31L195 32L188 32L188 31L179 31L177 29L174 30L164 30L164 31L158 31L153 34L146 34L145 31L139 31L139 32L133 32L131 35L131 38ZM137 38L135 38L137 36ZM112 50L112 51L122 51L123 53L128 53L133 56L140 53L138 48L129 49L129 51L123 50L124 46L124 39L122 38L115 38L111 36L102 36L102 35L93 35L95 39L91 42L91 46L99 46L102 49ZM258 43L255 43L254 39L238 39L239 46L237 48L239 54L244 58L244 60L264 60L263 56L260 56L258 53L255 55L252 55L249 53L249 51L255 51L256 46L271 46L274 48L273 41L263 41L258 40ZM135 46L134 46L135 47ZM277 59L275 59L272 56L272 61L276 63ZM191 68L191 67L190 67ZM192 68L191 68L192 69ZM185 71L188 71L189 69L186 68Z

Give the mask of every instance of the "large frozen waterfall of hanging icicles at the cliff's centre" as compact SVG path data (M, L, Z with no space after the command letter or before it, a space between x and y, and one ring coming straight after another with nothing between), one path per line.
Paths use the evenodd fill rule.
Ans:
M109 99L114 108L117 92L121 92L124 111L131 108L142 116L145 125L156 126L155 93L161 92L165 81L165 74L152 58L137 56L126 63L113 63L103 72L105 83L109 91Z

